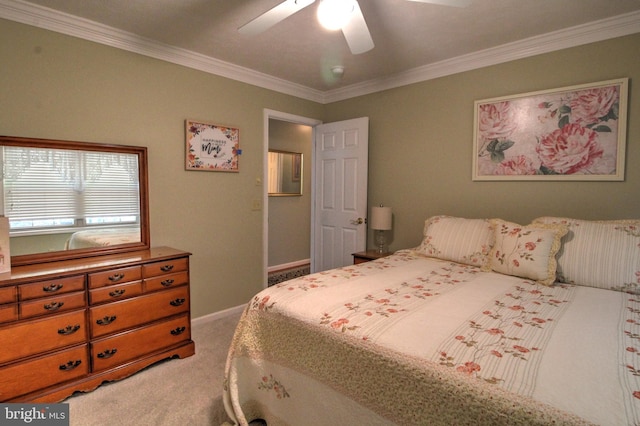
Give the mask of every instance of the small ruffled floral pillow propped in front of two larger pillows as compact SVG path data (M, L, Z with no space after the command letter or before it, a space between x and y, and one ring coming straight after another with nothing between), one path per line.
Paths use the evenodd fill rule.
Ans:
M492 219L495 243L484 270L551 285L556 280L556 254L567 227L560 224L519 225Z

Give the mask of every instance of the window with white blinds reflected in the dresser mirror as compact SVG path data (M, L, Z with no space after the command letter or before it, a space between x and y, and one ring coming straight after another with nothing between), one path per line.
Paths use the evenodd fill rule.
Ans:
M3 147L4 215L14 230L136 224L136 155Z

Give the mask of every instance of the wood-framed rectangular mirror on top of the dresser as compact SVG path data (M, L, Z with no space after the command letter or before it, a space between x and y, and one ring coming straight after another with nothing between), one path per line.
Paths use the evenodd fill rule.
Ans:
M12 266L149 248L146 147L0 136L0 157Z

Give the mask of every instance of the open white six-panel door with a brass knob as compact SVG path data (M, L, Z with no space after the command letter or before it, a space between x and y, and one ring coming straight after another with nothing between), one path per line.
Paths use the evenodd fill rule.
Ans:
M315 128L312 271L353 263L367 242L369 118Z

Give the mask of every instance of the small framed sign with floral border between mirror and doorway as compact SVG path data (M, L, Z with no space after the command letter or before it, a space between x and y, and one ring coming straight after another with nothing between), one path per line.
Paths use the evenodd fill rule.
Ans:
M186 169L237 172L240 130L186 120Z

